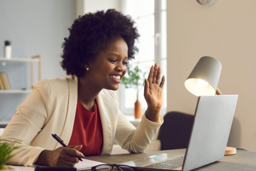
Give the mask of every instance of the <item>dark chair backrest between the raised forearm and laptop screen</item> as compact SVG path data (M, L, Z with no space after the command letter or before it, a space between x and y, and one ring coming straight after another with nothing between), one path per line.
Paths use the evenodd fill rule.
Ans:
M186 149L191 134L193 115L181 112L168 112L164 116L158 139L161 150Z

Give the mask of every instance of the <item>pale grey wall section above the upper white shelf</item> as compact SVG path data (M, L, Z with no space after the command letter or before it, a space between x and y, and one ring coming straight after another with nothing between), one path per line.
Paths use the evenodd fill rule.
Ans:
M0 47L9 39L13 57L40 54L42 78L65 76L61 45L75 19L75 5L73 0L0 0Z

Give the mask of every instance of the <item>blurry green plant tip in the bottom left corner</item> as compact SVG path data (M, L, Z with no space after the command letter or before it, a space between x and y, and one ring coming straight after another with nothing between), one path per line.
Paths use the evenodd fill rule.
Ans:
M6 162L8 162L13 156L15 156L15 154L17 154L17 153L15 154L11 154L11 153L12 151L18 148L20 147L15 146L15 143L0 142L0 170L4 169Z

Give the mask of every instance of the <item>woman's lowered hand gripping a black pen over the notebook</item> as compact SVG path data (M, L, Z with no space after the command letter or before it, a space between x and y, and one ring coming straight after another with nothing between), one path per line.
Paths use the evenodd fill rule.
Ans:
M59 147L55 150L44 150L39 154L38 160L35 162L37 165L48 165L48 166L66 166L74 167L79 162L80 158L84 158L79 150L82 145L79 146L68 146Z

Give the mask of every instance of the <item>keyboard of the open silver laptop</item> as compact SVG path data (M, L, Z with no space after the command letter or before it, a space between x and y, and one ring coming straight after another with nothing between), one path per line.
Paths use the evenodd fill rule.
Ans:
M182 167L184 156L178 157L176 159L164 160L159 163L154 163L152 165L147 165L145 167L149 168L166 168L166 169L175 169L178 167Z

